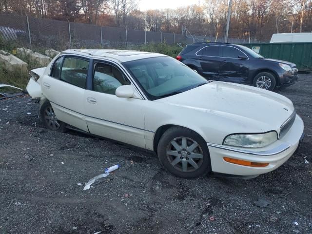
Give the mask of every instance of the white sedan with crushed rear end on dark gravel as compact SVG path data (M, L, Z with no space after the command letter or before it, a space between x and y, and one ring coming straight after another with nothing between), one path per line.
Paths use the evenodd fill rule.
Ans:
M259 88L207 81L156 53L66 50L32 71L45 126L75 129L155 151L176 176L256 176L299 148L292 102Z

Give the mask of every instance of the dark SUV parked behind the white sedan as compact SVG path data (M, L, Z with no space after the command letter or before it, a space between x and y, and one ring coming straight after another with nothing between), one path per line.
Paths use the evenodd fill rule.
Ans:
M176 57L210 80L253 84L273 90L298 80L296 64L266 59L252 49L228 43L194 43Z

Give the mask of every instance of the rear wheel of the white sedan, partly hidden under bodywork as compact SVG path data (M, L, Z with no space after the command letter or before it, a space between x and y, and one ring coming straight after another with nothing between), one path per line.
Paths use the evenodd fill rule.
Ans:
M45 101L40 108L41 120L44 123L45 127L58 132L66 132L65 123L60 121L50 104L49 101Z

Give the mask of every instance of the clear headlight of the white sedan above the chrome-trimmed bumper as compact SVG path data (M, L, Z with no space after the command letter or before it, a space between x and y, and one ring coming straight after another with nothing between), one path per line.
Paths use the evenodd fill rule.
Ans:
M275 131L264 134L234 134L224 139L224 145L247 148L259 148L272 144L277 140Z

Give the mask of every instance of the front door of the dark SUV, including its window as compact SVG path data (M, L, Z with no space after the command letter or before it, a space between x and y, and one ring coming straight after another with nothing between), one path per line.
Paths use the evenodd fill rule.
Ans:
M220 48L222 49L222 61L219 67L219 80L238 83L248 82L248 56L233 46L223 45Z

